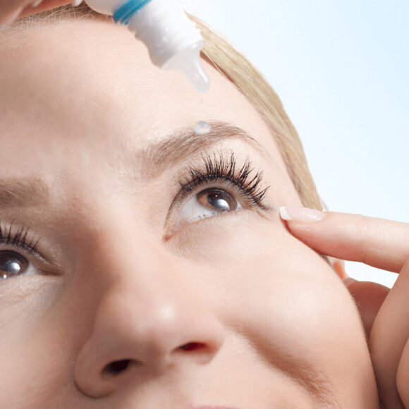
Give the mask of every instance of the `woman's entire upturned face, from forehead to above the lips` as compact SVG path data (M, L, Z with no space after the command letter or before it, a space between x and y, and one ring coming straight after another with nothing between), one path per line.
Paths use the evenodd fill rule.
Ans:
M2 408L377 406L353 299L279 219L300 200L228 80L204 63L197 94L98 20L0 52Z

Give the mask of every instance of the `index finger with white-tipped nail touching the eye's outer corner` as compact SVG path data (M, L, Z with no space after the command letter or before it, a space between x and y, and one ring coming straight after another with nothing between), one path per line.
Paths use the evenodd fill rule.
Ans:
M409 224L306 207L281 207L280 215L293 236L324 255L396 273L409 257Z

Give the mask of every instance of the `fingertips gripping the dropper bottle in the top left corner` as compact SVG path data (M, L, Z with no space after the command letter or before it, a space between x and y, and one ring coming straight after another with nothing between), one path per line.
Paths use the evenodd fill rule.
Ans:
M70 3L70 0L44 0L37 7L32 7L31 4L35 4L35 0L0 0L0 25L11 23L22 16Z

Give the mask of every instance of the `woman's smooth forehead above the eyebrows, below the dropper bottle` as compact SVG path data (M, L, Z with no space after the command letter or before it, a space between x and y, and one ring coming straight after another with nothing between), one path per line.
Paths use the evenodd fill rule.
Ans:
M198 94L180 73L153 66L126 28L102 20L26 28L0 47L0 138L8 152L17 145L31 157L33 145L127 152L199 121L224 121L257 139L286 173L260 115L205 61L212 85Z

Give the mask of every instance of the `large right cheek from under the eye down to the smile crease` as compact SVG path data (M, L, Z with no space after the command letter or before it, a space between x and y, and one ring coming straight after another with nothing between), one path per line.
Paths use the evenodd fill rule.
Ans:
M226 214L191 227L177 238L178 250L206 265L203 288L221 319L264 362L283 368L299 362L337 379L362 359L365 337L348 291L278 218ZM342 358L345 350L350 359Z

